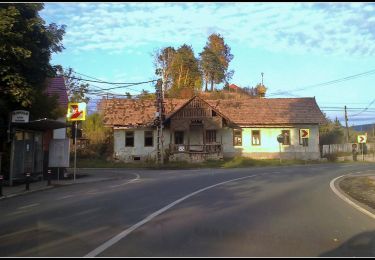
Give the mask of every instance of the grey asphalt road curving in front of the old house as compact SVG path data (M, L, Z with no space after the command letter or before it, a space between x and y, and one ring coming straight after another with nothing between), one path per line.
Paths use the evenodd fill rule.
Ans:
M106 172L127 177L0 201L0 256L375 256L329 186L374 164Z

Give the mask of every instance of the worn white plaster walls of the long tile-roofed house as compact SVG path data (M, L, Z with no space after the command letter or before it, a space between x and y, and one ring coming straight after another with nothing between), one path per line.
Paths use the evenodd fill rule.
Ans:
M310 129L308 147L299 144L299 129ZM144 146L144 131L152 129L129 129L134 131L134 147L125 147L125 129L114 129L114 156L123 161L133 162L133 156L140 156L141 161L156 158L157 131L154 133L154 146ZM260 130L261 145L251 144L251 131ZM319 127L318 125L298 125L292 128L242 128L242 146L233 146L233 129L222 128L217 132L217 142L223 143L224 157L248 156L252 158L279 158L279 143L277 136L282 130L290 130L290 145L282 145L282 158L289 159L318 159L319 152ZM184 143L187 144L187 131L184 132ZM190 144L203 143L202 131L190 132ZM164 129L164 149L169 148L171 132ZM172 135L172 143L173 135Z

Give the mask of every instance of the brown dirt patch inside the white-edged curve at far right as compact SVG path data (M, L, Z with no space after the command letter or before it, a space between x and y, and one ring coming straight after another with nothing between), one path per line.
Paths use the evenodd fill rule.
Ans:
M339 183L339 186L353 199L375 209L375 177L347 177Z

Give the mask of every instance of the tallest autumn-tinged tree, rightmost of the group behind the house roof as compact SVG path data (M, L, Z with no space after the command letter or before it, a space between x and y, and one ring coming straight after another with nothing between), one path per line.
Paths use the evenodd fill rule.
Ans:
M227 83L233 76L233 71L228 70L229 63L233 59L230 53L230 47L225 44L224 38L220 34L211 34L203 51L200 53L201 67L204 78L211 84L211 91L214 90L214 84Z

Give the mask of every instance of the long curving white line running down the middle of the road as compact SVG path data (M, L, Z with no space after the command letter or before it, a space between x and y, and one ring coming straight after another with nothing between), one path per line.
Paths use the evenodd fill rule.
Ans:
M194 196L194 195L197 195L198 193L201 193L203 191L206 191L206 190L209 190L209 189L212 189L212 188L215 188L217 186L220 186L220 185L223 185L223 184L227 184L229 182L233 182L233 181L238 181L238 180L244 180L244 179L248 179L248 178L252 178L252 177L256 177L258 175L251 175L251 176L246 176L246 177L242 177L242 178L237 178L237 179L233 179L233 180L229 180L229 181L224 181L224 182L220 182L218 184L215 184L215 185L211 185L209 187L206 187L206 188L203 188L203 189L200 189L200 190L197 190L193 193L190 193L189 195L186 195L185 197L182 197L181 199L178 199L172 203L170 203L169 205L165 206L164 208L161 208L159 209L158 211L152 213L151 215L149 215L148 217L144 218L142 221L136 223L135 225L131 226L130 228L122 231L121 233L119 233L118 235L114 236L113 238L111 238L110 240L108 240L107 242L103 243L102 245L100 245L98 248L94 249L93 251L91 251L90 253L88 253L87 255L85 255L85 257L95 257L97 256L98 254L102 253L103 251L105 251L106 249L108 249L109 247L113 246L114 244L116 244L117 242L119 242L121 239L125 238L126 236L128 236L130 233L132 233L134 230L136 230L137 228L139 228L140 226L146 224L147 222L151 221L153 218L159 216L160 214L164 213L165 211L167 211L168 209L176 206L177 204L183 202L184 200Z

